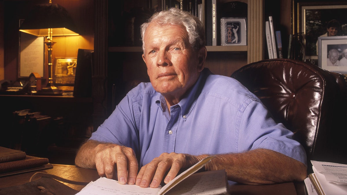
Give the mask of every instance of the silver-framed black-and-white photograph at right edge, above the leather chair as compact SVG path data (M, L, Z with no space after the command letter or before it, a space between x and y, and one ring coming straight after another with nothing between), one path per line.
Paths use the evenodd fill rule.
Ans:
M347 74L347 36L318 37L318 65L325 70Z

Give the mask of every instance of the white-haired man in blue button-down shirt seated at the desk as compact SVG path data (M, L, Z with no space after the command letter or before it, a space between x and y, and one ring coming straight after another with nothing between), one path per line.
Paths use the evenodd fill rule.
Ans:
M204 170L225 169L230 181L306 177L306 154L293 133L237 80L204 68L204 27L197 17L175 8L158 12L141 34L151 82L129 91L81 146L77 166L153 188L208 155L216 157Z

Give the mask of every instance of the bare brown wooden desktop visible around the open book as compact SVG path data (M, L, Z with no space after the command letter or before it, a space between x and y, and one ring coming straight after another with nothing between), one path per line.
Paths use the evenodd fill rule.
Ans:
M30 177L35 172L45 172L52 175L57 175L59 177L74 180L74 181L83 181L83 182L90 182L95 181L100 176L96 172L96 170L92 169L83 169L78 168L71 165L61 165L61 164L53 164L53 168L51 169L44 169L40 171L32 171L32 172L26 172L21 173L17 175L11 175L11 176L4 176L0 177L0 188L3 187L10 187L10 186L16 186L16 185L22 185L29 181ZM73 185L73 184L67 184L65 185L76 189L81 190L84 186L80 185ZM230 194L281 194L281 195L295 195L297 194L296 191L298 191L298 194L305 194L305 189L302 183L299 185L294 185L294 183L283 183L283 184L274 184L274 185L233 185L230 187ZM295 189L295 188L302 188L302 189Z

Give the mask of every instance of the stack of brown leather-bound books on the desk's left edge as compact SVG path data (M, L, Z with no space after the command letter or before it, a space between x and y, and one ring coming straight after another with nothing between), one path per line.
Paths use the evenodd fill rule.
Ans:
M0 146L0 177L52 167L47 158L29 156L23 151Z

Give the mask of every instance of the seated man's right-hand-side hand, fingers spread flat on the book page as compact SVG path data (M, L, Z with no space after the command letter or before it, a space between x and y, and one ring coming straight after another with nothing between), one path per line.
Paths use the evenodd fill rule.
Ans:
M180 169L191 167L201 159L203 157L189 154L162 153L140 169L136 177L136 185L156 188L169 171L164 179L164 183L167 184L177 176Z

